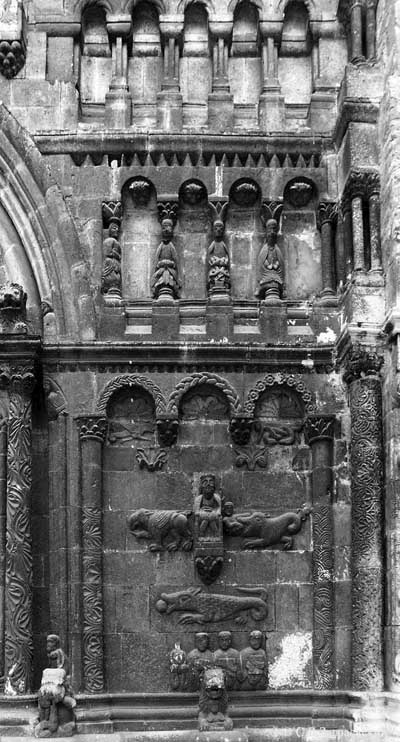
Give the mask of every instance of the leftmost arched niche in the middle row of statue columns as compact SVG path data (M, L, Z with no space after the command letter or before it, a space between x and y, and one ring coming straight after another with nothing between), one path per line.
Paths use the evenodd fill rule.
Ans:
M152 265L161 234L154 185L143 177L127 181L122 207L123 297L150 299Z

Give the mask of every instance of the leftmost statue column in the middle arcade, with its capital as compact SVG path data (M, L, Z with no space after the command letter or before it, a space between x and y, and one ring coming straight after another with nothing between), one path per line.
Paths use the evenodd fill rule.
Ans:
M120 201L104 202L103 222L108 227L108 237L103 241L103 271L101 293L110 299L121 298L121 227L122 204Z

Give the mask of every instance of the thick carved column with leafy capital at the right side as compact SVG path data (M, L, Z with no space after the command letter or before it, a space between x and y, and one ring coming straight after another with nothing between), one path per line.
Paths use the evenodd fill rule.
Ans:
M345 362L350 390L352 484L352 685L383 685L383 358L360 346Z

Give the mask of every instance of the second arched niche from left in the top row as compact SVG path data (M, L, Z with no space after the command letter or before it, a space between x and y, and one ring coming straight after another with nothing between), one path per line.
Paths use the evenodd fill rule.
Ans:
M158 14L154 5L139 2L132 16L128 84L132 94L132 120L155 126L157 93L161 89L162 54Z

